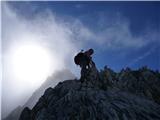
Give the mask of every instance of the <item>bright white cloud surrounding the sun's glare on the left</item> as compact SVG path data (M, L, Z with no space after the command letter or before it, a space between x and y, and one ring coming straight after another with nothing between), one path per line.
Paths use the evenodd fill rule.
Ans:
M51 53L53 61L51 73L64 68L76 71L73 56L82 45L74 42L74 34L70 28L57 21L55 15L48 10L38 13L32 19L28 19L19 15L10 5L3 3L2 117L5 117L13 108L17 107L17 104L23 105L36 89L30 89L30 86L24 84L23 81L17 83L10 63L12 48L27 43L38 44Z

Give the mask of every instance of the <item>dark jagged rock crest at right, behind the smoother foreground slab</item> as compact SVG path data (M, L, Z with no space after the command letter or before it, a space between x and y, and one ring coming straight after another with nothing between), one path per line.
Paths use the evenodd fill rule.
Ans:
M115 73L105 67L100 73L103 77L102 80L106 83L104 86L116 87L160 104L160 73L158 71L155 72L147 67L142 67L139 70L126 68Z

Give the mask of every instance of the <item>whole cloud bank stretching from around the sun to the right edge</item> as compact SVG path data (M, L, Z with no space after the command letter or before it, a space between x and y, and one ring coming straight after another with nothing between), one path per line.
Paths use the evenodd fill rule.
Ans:
M75 7L82 8L83 6L77 5ZM32 8L31 10L34 11L36 9ZM86 19L88 19L87 17ZM21 90L21 94L16 92L18 88L14 83L15 79L11 74L8 60L10 48L13 46L28 42L39 44L52 54L52 60L54 61L52 71L70 68L77 73L73 57L81 49L96 46L105 50L126 51L128 49L140 49L158 40L158 37L156 37L158 33L153 31L145 32L140 36L134 36L130 30L129 21L121 15L114 17L102 15L98 21L95 21L96 25L98 27L95 27L96 30L93 30L81 22L80 19L74 17L66 19L51 12L49 9L35 13L32 17L26 17L26 15L23 15L23 12L3 2L2 52L4 93L2 100L4 104L2 104L2 108L5 108L6 111L2 112L9 112L10 108L16 106L16 104L13 105L11 103L23 104L26 97L22 98L21 94L27 94L24 90ZM146 55L148 54L146 53ZM136 62L146 55L134 61ZM27 90L27 86L24 89ZM12 95L10 94L11 91ZM30 91L30 93L32 92L33 90ZM29 96L30 94L27 95Z

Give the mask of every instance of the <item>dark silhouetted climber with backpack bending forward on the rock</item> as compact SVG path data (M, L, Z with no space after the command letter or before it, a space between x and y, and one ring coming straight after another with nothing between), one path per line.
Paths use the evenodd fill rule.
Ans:
M86 78L89 69L95 66L95 63L92 61L91 57L93 53L93 49L89 49L85 52L82 50L74 57L75 64L81 67L81 82L83 82Z

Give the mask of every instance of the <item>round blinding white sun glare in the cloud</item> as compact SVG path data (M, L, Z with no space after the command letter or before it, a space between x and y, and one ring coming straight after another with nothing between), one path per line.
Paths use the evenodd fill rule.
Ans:
M51 58L49 53L36 45L17 47L12 54L14 75L23 83L35 87L42 83L50 72Z

